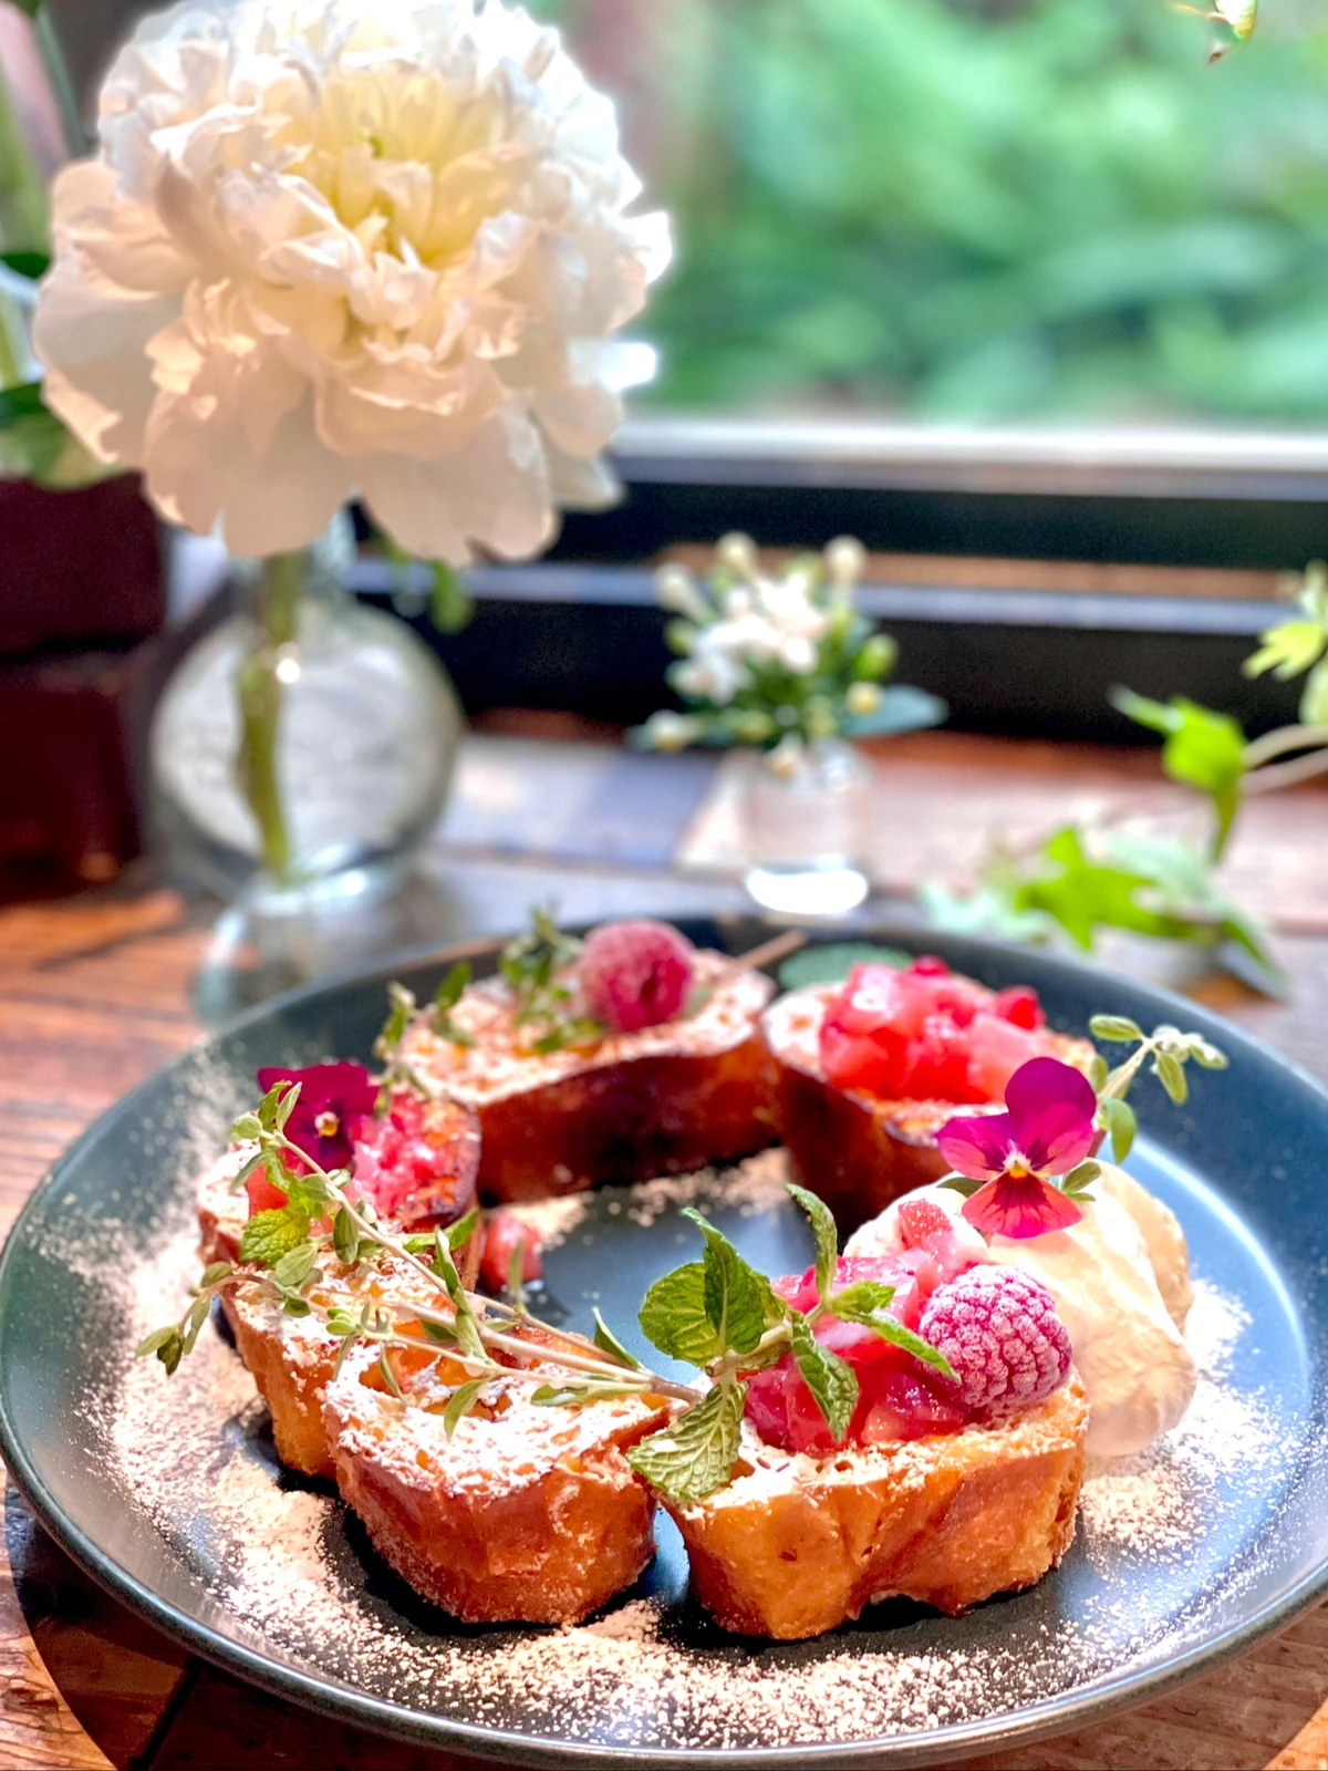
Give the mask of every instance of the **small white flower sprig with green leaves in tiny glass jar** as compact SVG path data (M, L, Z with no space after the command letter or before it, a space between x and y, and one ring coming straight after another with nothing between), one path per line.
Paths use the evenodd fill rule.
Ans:
M685 712L662 710L634 739L648 749L747 746L745 882L758 903L839 914L868 893L868 769L855 739L935 726L933 694L885 684L894 641L855 607L862 544L832 540L763 570L747 535L726 535L701 579L664 565L655 588L675 616L668 669Z

